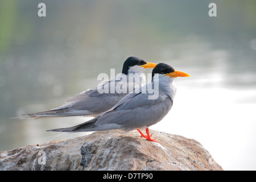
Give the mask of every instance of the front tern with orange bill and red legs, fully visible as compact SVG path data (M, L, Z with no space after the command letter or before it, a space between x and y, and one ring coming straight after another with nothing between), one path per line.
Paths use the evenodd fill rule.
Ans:
M175 71L168 64L159 63L152 70L152 82L127 94L112 109L80 125L48 131L138 130L142 137L156 142L151 138L148 127L161 121L170 111L176 93L174 83L176 77L189 77L189 75ZM157 98L148 99L151 94L150 88L158 89ZM144 135L141 129L146 129L147 135Z

